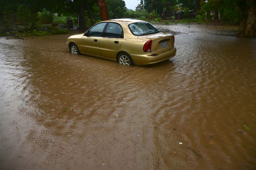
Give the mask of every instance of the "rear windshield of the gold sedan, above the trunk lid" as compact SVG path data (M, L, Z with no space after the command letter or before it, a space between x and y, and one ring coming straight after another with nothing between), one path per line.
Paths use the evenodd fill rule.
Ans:
M134 22L129 24L129 29L133 35L147 35L160 32L159 29L149 22Z

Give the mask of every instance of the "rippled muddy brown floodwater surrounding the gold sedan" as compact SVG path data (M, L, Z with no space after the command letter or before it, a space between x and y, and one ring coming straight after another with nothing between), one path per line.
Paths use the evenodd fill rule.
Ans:
M0 169L256 169L256 39L159 27L177 55L147 67L0 38Z

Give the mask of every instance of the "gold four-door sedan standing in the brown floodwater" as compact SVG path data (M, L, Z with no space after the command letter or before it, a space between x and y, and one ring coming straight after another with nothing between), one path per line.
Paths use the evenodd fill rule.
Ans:
M67 48L72 54L86 54L124 65L154 64L176 54L174 35L135 19L98 22L84 34L69 37Z

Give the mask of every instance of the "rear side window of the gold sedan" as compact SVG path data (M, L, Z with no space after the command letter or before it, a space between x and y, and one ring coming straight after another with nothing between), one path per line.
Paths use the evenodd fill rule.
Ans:
M123 38L123 29L119 24L110 22L107 26L104 37Z

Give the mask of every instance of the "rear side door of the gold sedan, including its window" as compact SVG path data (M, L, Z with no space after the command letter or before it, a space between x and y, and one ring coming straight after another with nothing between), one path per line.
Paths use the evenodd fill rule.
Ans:
M109 59L116 59L116 54L123 41L121 25L109 22L100 40L100 55Z

